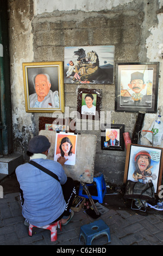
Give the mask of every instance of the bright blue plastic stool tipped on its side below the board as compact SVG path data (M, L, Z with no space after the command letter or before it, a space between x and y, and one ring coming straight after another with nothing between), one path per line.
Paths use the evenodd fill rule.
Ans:
M105 179L104 179L104 175L101 174L97 177L93 177L93 181L96 182L97 185L97 194L98 196L92 196L92 199L98 200L99 203L103 203L103 198L106 194L106 184L105 184ZM86 186L93 186L93 184L86 184ZM79 186L79 193L78 195L80 197L85 197L85 198L89 198L86 194L83 194L83 186L80 184Z

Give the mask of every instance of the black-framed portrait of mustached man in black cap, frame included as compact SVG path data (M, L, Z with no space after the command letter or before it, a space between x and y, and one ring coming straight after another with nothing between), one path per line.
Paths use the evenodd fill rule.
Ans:
M156 113L159 62L117 63L115 111Z

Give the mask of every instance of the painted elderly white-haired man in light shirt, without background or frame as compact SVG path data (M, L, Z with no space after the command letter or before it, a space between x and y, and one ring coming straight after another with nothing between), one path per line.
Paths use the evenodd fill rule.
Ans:
M35 93L29 95L32 108L59 108L58 91L52 92L48 74L38 74L33 78Z

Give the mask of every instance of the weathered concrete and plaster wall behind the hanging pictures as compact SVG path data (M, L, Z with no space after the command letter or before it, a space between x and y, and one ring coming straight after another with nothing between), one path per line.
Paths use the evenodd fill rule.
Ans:
M39 131L39 117L55 113L26 113L22 63L64 61L65 46L115 45L115 63L160 62L158 107L163 114L163 0L8 2L14 148L24 153L25 160L28 141ZM132 136L137 113L115 112L115 79L111 85L65 84L65 106L70 113L77 110L78 88L102 89L102 111L111 111L111 123L124 124ZM154 118L155 114L146 114L143 129L148 130ZM94 123L91 131L78 132L97 136L95 173L103 172L107 181L122 184L126 149L101 150L101 132Z

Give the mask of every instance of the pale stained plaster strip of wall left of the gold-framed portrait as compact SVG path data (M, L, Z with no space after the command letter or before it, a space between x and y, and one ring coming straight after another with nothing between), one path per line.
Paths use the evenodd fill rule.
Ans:
M33 1L9 1L11 100L14 145L16 151L26 149L35 133L33 114L27 113L24 101L23 62L33 61Z

